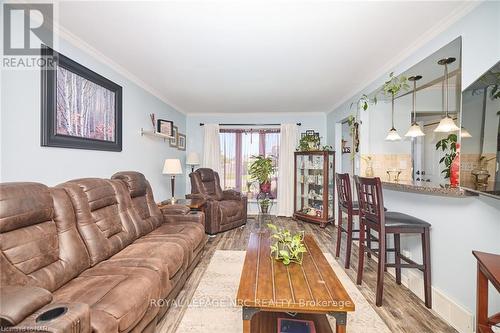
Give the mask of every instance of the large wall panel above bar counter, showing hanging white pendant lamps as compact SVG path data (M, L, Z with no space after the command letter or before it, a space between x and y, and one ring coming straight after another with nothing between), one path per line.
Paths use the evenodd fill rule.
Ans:
M406 84L394 96L394 112L383 87L369 95L377 102L367 112L361 174L450 186L450 165L460 142L461 45L459 37L401 73L398 78L406 78ZM458 172L453 176L458 186Z

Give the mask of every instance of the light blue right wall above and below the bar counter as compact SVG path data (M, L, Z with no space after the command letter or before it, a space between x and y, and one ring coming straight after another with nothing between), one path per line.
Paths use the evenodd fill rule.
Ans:
M484 2L412 56L394 67L401 73L439 48L462 36L462 86L467 87L500 60L500 2ZM382 42L381 42L381 45ZM356 94L369 93L386 76ZM327 115L327 138L335 143L335 123L347 117L351 100ZM370 110L368 110L370 112ZM362 111L363 114L363 111ZM365 115L366 116L366 115ZM390 118L386 119L390 124ZM363 145L365 129L361 130ZM363 147L361 147L363 149ZM454 302L475 313L476 266L472 250L500 253L500 200L484 197L441 198L422 194L385 191L386 205L422 218L432 224L432 284ZM420 256L419 241L403 240L403 248ZM500 297L492 292L492 313L500 310Z

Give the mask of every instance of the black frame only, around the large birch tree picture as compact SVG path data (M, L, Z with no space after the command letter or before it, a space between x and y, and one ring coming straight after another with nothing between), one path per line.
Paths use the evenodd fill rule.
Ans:
M42 46L41 54L43 59L51 59L45 61L45 66L41 69L41 146L122 151L122 87L47 46ZM113 141L62 135L56 132L57 66L114 93Z

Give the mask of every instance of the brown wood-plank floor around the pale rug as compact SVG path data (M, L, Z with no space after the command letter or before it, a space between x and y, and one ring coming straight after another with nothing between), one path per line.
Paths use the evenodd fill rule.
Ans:
M270 221L269 221L270 222ZM264 226L265 223L261 224ZM321 229L318 225L302 221L294 221L288 218L273 218L272 223L284 226L287 229L298 231L305 230L316 238L321 250L335 256L336 228L329 225ZM212 255L216 250L246 250L248 237L251 231L259 228L259 221L255 217L249 217L248 223L240 228L219 234L210 238L205 249L204 257L195 268L186 282L183 290L176 299L165 317L158 323L158 331L161 333L173 333L179 325L187 308L188 300L192 297L198 283L205 272ZM345 233L343 233L345 236ZM342 245L345 245L343 240ZM342 248L338 259L343 267L345 248ZM354 245L351 257L351 269L346 270L349 278L356 283L356 269L358 260L358 248ZM381 307L375 306L375 284L376 284L376 262L365 261L363 284L357 286L363 296L368 300L375 311L384 320L392 332L404 333L452 333L457 332L451 326L441 320L432 310L428 310L424 303L404 286L398 286L392 276L386 274L384 284L384 303ZM264 332L263 332L264 333Z

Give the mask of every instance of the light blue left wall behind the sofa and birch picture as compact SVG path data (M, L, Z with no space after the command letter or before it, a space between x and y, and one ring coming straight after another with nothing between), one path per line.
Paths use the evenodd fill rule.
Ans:
M59 41L62 54L123 87L123 151L105 152L40 146L40 70L2 70L0 180L35 181L49 186L81 177L109 178L121 170L136 170L150 180L157 201L170 198L170 180L161 174L165 158L185 160L185 152L163 139L141 137L151 129L149 113L173 120L186 129L186 117L82 49ZM180 177L183 179L183 177ZM183 196L185 182L176 192Z

